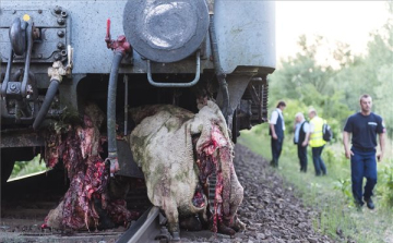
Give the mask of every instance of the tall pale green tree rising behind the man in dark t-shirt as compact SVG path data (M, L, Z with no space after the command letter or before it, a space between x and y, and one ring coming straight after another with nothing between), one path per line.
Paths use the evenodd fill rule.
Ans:
M365 57L356 57L349 65L345 65L336 75L335 82L344 90L344 102L350 110L359 109L359 97L362 94L373 98L373 110L381 114L393 134L393 2L386 3L390 12L384 26L371 33L368 52Z

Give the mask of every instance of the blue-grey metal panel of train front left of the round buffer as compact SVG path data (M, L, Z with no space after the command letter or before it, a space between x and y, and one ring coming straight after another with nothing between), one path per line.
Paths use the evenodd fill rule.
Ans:
M111 33L115 36L122 34L121 13L126 1L27 1L1 0L0 22L4 11L16 10L53 10L57 5L68 10L71 23L71 45L74 48L73 73L109 73L112 51L108 50L104 41L106 20L112 21ZM49 13L51 15L51 13ZM15 14L14 14L15 15ZM1 44L4 45L4 44ZM3 52L1 50L1 52ZM4 56L3 53L1 53ZM7 56L7 53L5 53ZM4 60L3 60L4 61ZM34 69L34 68L33 68ZM46 73L48 66L40 72ZM35 70L37 71L37 70Z

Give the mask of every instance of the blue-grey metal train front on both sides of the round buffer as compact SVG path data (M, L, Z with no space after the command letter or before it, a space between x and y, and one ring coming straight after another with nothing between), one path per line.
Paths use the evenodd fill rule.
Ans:
M73 73L109 73L114 53L107 49L104 40L106 21L108 17L111 20L112 38L124 34L122 13L126 3L126 0L1 0L0 23L3 22L2 13L5 10L16 10L15 14L22 14L23 11L20 10L37 11L39 7L43 11L47 11L60 5L68 11L68 16L72 20L70 37L74 48ZM215 4L214 21L224 71L231 73L242 65L275 69L274 1L215 0ZM51 13L50 17L52 17ZM0 35L4 38L3 33ZM5 42L0 45L3 46ZM206 46L205 57L210 57L209 37ZM3 50L0 51L2 56L8 57L8 52L3 54ZM212 69L212 64L209 59L201 60L201 71ZM170 65L158 65L159 69L153 69L155 73L194 72L193 58ZM36 73L47 73L47 65L32 65L32 70ZM146 61L133 51L133 64L123 63L120 73L146 73Z

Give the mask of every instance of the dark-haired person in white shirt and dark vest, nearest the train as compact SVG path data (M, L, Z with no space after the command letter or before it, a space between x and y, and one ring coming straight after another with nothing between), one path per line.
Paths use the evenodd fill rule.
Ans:
M269 135L272 136L272 167L278 167L278 158L283 149L285 131L283 110L285 109L285 107L286 104L284 101L278 101L276 109L272 112L272 117L270 120Z

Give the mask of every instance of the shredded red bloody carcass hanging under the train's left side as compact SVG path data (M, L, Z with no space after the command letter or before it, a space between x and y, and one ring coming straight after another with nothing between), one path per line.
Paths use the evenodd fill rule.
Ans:
M104 113L91 105L85 108L83 124L50 131L46 161L55 167L61 158L70 186L58 207L46 217L44 228L111 228L138 218L138 212L127 209L123 198L108 196L109 169L99 155L98 129L103 120Z

